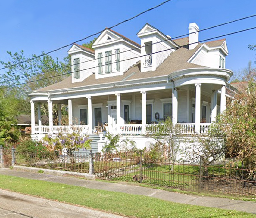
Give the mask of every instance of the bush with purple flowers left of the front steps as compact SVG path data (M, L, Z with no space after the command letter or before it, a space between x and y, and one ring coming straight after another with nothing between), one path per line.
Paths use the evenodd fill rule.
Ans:
M43 144L49 150L61 151L64 149L70 156L73 156L76 150L90 149L91 141L88 137L82 137L78 133L69 133L67 135L58 133L56 137L45 135L43 138Z

